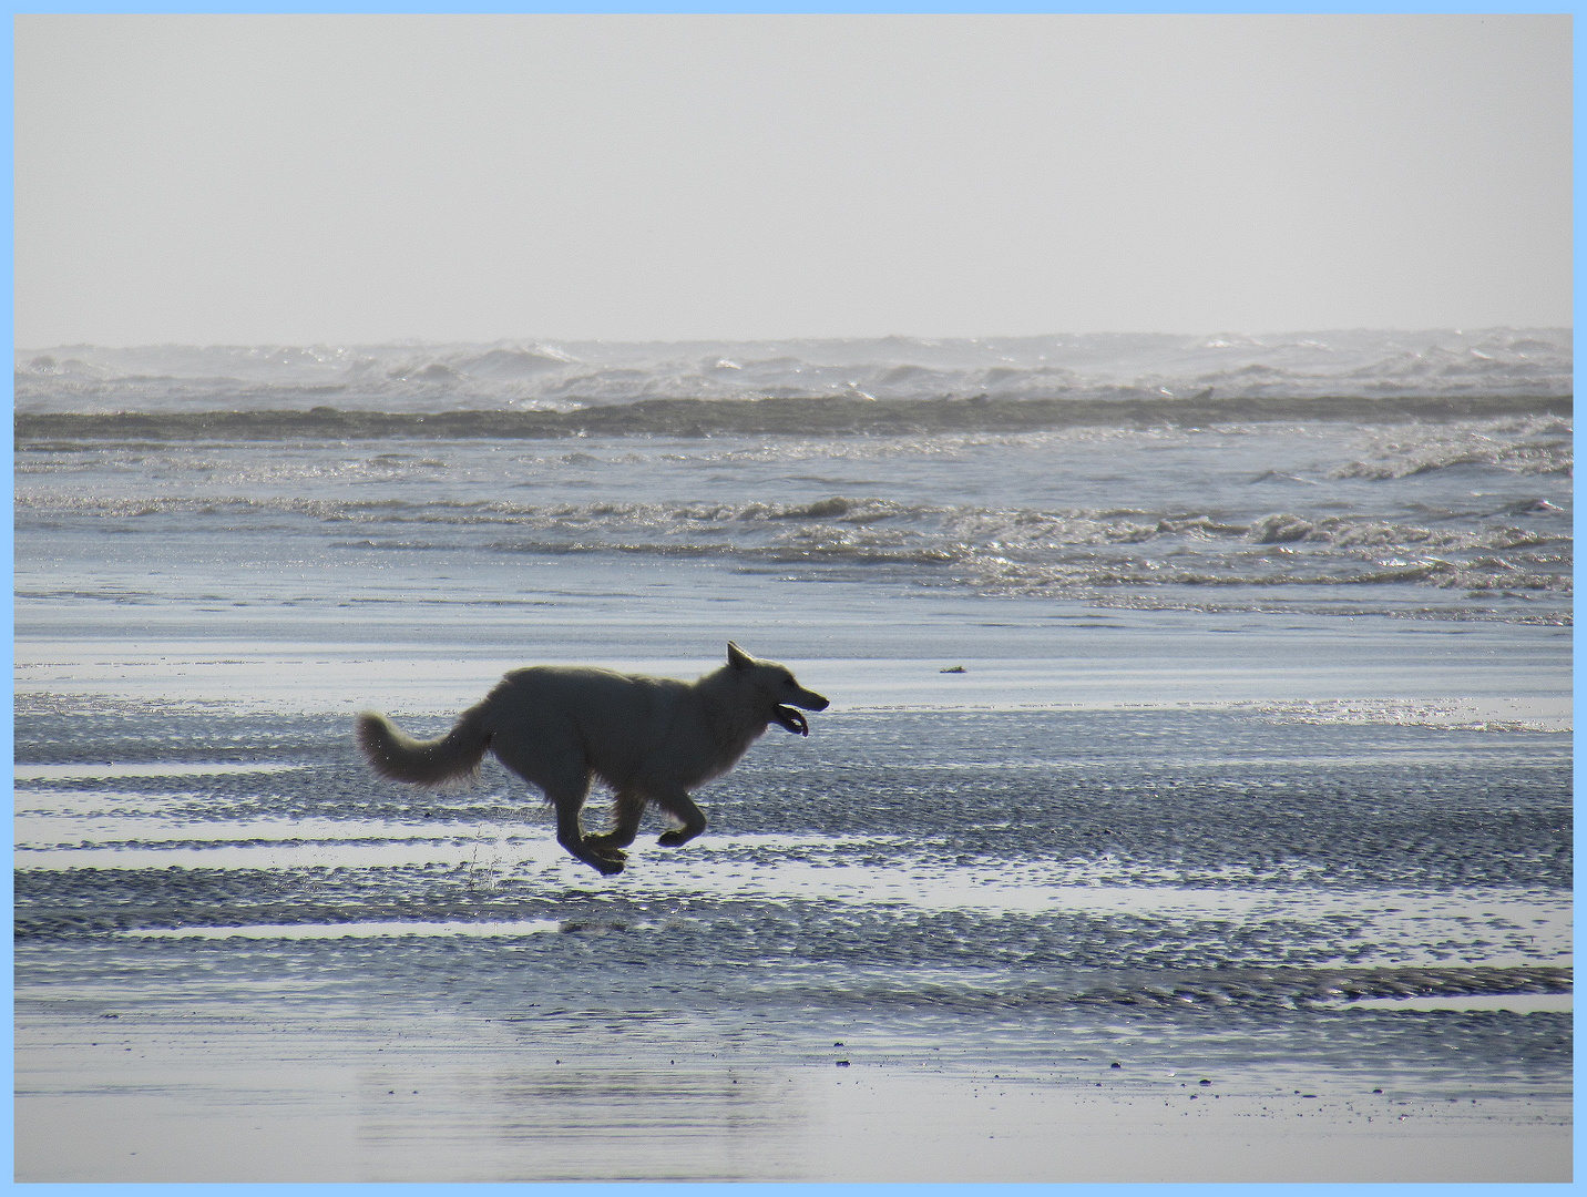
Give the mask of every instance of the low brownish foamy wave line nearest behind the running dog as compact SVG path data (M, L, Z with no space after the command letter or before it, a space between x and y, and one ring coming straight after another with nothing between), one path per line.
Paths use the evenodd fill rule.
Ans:
M357 529L336 543L375 551L470 548L492 554L633 554L735 559L746 568L930 567L1001 595L1095 595L1165 587L1381 587L1474 597L1571 591L1568 525L1501 516L1454 527L1373 516L992 510L828 495L798 503L340 500L298 495L17 495L19 519L211 521L229 535L281 519ZM1558 525L1555 525L1558 524ZM433 532L425 532L433 529ZM935 575L933 575L935 576Z

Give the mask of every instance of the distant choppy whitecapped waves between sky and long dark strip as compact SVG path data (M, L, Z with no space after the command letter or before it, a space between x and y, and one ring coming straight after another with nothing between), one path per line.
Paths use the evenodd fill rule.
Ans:
M1185 400L1571 394L1565 329L1279 337L63 346L19 351L19 411L567 411L659 398Z

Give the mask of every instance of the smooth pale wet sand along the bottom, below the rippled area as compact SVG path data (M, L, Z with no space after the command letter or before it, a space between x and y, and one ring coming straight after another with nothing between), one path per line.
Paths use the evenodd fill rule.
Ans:
M252 1014L252 1011L249 1011ZM1111 1070L1008 1045L643 1045L546 1019L24 1022L24 1180L1560 1181L1570 1095ZM795 1029L789 1029L795 1032ZM340 1033L338 1033L340 1032ZM84 1041L87 1033L98 1040ZM1047 1045L1054 1051L1055 1045ZM714 1051L708 1051L714 1048ZM1068 1053L1065 1053L1068 1054ZM46 1056L71 1067L46 1070ZM847 1068L833 1059L849 1059ZM1155 1064L1155 1062L1154 1062ZM46 1081L48 1076L48 1081ZM1100 1080L1093 1080L1100 1078ZM43 1083L43 1084L41 1084ZM1301 1092L1305 1087L1305 1094Z

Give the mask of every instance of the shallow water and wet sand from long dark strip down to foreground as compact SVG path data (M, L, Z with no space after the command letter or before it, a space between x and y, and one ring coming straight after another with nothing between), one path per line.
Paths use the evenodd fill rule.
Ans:
M576 449L19 454L19 1178L1568 1178L1558 419ZM355 757L728 637L616 878Z

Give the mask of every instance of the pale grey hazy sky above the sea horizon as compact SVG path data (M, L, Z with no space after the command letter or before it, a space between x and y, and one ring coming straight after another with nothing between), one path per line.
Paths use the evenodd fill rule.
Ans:
M16 337L1571 322L1570 17L24 16Z

